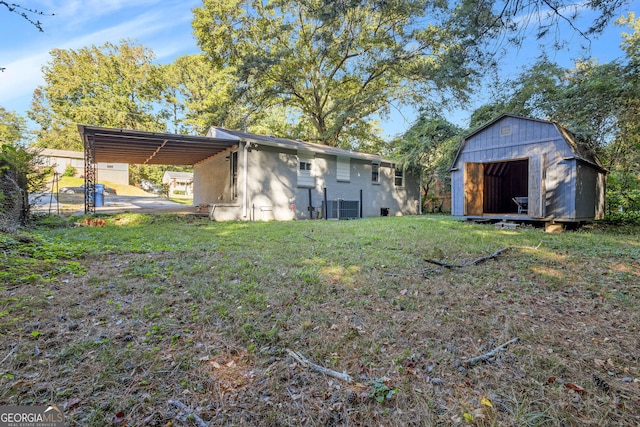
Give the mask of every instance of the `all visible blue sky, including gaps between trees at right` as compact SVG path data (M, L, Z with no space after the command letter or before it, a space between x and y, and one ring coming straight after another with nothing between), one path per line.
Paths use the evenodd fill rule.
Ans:
M33 16L42 23L39 32L17 14L0 6L0 106L26 117L34 89L44 83L41 68L51 57L52 49L80 49L100 46L106 42L118 43L131 39L151 48L156 62L165 64L176 57L198 53L193 36L192 9L201 0L13 0L45 15ZM640 0L630 1L620 14L635 11L640 14ZM592 16L584 14L584 19ZM569 28L560 27L559 35L568 41L560 51L547 50L549 58L559 65L571 68L578 58L593 56L601 63L624 55L620 50L624 31L611 25L604 34L590 43ZM553 40L549 40L549 45ZM585 45L587 48L585 49ZM533 35L519 49L511 48L500 63L503 77L515 77L519 71L535 62L541 48ZM471 102L444 112L445 117L466 127L470 114L487 100L487 90L476 91ZM381 120L383 135L393 137L406 131L416 119L412 108L393 108L388 118ZM30 126L33 126L31 124Z

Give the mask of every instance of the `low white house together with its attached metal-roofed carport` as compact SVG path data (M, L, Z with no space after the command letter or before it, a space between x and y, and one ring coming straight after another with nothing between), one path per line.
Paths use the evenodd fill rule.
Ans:
M78 131L94 163L193 166L194 207L214 220L420 213L419 177L375 154L216 127L207 136L87 125Z

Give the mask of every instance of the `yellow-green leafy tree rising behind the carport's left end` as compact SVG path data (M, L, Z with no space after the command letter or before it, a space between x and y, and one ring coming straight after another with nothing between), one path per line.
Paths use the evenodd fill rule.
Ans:
M29 111L40 125L36 145L80 149L77 123L165 130L157 108L165 83L150 49L125 40L51 56Z

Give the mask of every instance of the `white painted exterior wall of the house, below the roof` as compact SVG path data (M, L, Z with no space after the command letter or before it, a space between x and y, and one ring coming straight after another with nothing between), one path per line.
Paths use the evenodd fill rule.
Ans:
M380 183L371 182L371 162L351 158L349 179L346 171L338 175L337 157L320 153L260 145L247 152L247 180L244 180L244 144L238 149L238 199L230 194L229 165L217 156L194 167L194 205L216 204L216 220L291 220L317 218L321 214L326 188L327 199L360 200L364 217L380 216L381 208L390 215L419 213L418 181L405 174L405 185L394 186L394 169L389 164L380 168ZM301 178L300 160L311 161L310 174ZM246 193L245 193L246 190ZM309 214L309 190L311 206ZM211 208L210 208L211 209Z

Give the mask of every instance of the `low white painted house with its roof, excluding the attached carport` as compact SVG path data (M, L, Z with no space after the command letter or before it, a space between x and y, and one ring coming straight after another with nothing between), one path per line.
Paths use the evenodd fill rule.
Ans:
M194 204L212 205L212 219L419 213L419 179L380 156L221 128L207 136L236 141L194 167Z

